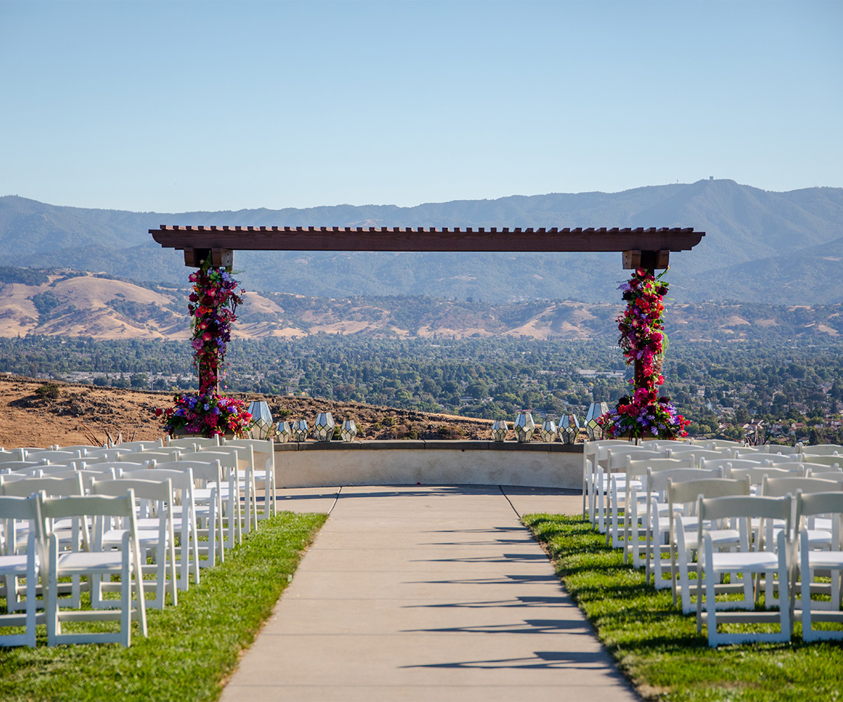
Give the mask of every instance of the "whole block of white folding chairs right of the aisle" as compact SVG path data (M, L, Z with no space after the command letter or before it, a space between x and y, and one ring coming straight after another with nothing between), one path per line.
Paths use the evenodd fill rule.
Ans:
M729 614L726 619L756 621L779 617L778 635L789 639L795 611L797 619L803 620L804 639L843 638L841 631L818 631L811 624L812 612L818 608L823 609L820 619L843 622L843 613L839 611L840 563L835 560L840 558L838 552L843 545L840 516L832 513L817 517L819 512L815 507L820 498L810 497L814 501L808 498L814 494L840 495L843 471L836 460L840 453L831 450L833 447L824 447L824 453L816 454L809 453L813 447L802 447L802 451L776 447L787 451L781 455L769 453L769 447L763 451L746 451L746 448L690 443L679 446L678 442L645 442L643 446L631 446L629 442L591 442L586 445L583 459L583 517L588 516L594 528L606 533L608 543L624 549L625 560L645 568L648 582L652 581L657 588L672 587L674 603L683 612L690 614L697 610L700 627L703 623L708 627L711 646L744 640L743 635L718 631L717 610L754 609L762 584L765 604L779 605L777 613L762 617L761 613L744 611L740 616ZM744 499L754 500L756 496L762 498L760 502ZM799 501L803 497L808 500L804 504ZM720 523L720 517L711 517L719 514L715 502L706 503L709 516L701 517L701 499L725 500L727 505L749 510L746 528L739 528L736 515L732 515L734 523ZM843 498L828 499L832 502L826 501L824 505ZM769 505L771 500L782 503L789 500L787 519L769 517L768 512L756 507ZM749 508L750 504L754 507ZM752 510L760 512L755 514ZM759 565L756 570L762 571L763 576L756 576L753 583L749 574L754 566L746 565L752 560L752 557L747 560L747 553L759 553L765 549L765 543L777 547L782 539L781 560L776 560L780 572L776 575L773 572L776 569L765 570ZM722 553L722 549L728 551ZM771 552L779 559L777 548ZM767 559L761 559L764 563L772 562L772 556L764 558ZM719 582L718 575L718 569L725 567L724 562L742 566L729 571L733 577L727 586ZM811 573L817 567L831 567L817 563L829 562L838 563L833 584L820 586L813 581ZM695 563L700 571L697 579L691 576ZM784 577L781 567L787 571ZM709 571L714 574L711 578ZM738 579L738 573L744 578ZM803 592L797 597L800 574ZM704 587L697 587L698 583ZM830 602L834 604L813 600L811 593L818 590L830 594ZM722 601L717 598L721 591L742 592L743 598ZM696 606L693 594L696 594ZM721 623L723 619L720 616ZM770 635L749 635L750 640L765 640L765 637L769 639Z

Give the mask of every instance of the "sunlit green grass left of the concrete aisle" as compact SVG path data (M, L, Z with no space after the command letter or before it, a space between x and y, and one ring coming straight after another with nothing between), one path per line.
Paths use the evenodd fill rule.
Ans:
M260 522L224 564L179 593L178 607L148 609L149 637L135 624L127 649L50 648L40 625L35 649L0 649L0 699L217 699L326 518L282 512Z

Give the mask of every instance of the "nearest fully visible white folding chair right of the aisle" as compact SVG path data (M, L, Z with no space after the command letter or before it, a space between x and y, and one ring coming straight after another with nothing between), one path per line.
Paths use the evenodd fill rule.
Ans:
M709 646L790 640L792 635L789 595L792 560L792 500L791 496L728 496L699 499L697 514L700 524L697 539L701 544L702 553L697 559L696 572L697 581L702 583L702 587L697 588L697 633L702 633L702 627L705 624ZM738 521L740 549L728 552L715 550L713 539L705 524L728 519ZM759 521L759 527L755 530L750 526L750 521L753 519ZM764 522L768 519L781 520L785 525L776 539L776 549L765 548ZM752 577L754 574L763 575L765 581L772 581L774 574L778 576L778 588L781 594L781 606L778 612L754 611L757 598ZM719 603L718 607L716 588L724 575L732 578L740 576L744 583L744 598ZM705 612L703 611L703 593L706 596ZM744 611L726 611L734 609ZM721 614L718 615L718 612ZM774 632L745 630L721 632L719 630L720 624L749 623L777 623L779 630Z

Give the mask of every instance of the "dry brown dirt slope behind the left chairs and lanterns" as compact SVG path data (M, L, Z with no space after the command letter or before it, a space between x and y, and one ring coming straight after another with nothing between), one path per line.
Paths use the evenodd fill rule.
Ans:
M57 398L36 394L44 380L0 377L0 447L103 444L162 436L156 407L172 404L172 394L56 383ZM489 439L491 421L394 410L330 400L233 394L245 400L266 399L273 418L307 420L313 427L319 412L339 423L353 419L357 437L366 439Z

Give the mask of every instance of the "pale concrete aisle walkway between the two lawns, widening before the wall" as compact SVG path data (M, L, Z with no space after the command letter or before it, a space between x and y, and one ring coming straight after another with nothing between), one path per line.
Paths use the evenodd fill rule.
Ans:
M330 518L225 702L638 699L518 522L576 513L578 494L464 485L283 494L284 509Z

